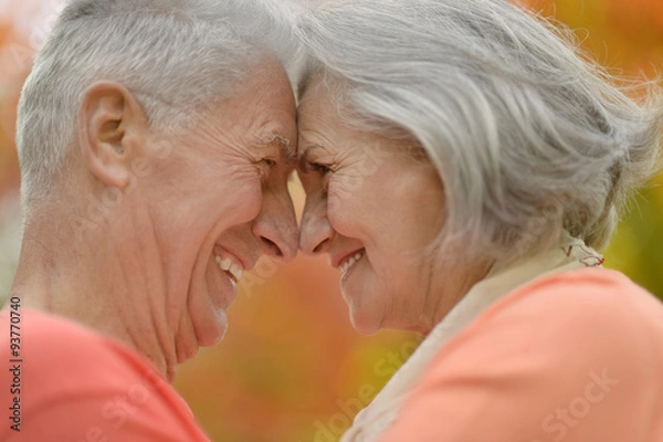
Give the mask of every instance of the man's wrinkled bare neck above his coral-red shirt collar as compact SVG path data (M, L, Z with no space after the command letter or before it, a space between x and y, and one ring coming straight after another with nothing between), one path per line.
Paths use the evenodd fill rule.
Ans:
M165 329L146 329L165 322L151 317L155 312L149 305L140 305L147 302L145 295L154 287L140 287L141 281L127 276L136 274L127 272L130 260L119 256L116 248L105 243L109 235L59 245L53 241L62 234L35 231L40 232L38 236L30 228L25 229L10 297L20 297L25 308L70 318L120 340L172 379L177 360L169 361L162 346L172 338L162 335L167 333ZM170 359L176 359L175 350L170 354L173 355Z

